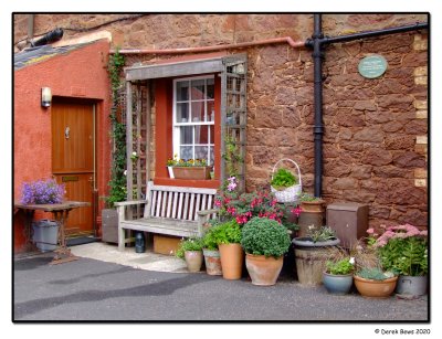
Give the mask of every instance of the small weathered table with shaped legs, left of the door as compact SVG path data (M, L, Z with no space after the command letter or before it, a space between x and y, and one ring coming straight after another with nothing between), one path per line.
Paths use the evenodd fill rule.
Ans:
M71 250L66 246L66 237L64 232L64 224L67 221L69 213L73 209L90 206L91 203L83 201L65 201L63 203L53 203L53 204L23 204L23 203L14 203L14 208L19 210L23 210L24 212L24 232L27 239L27 246L32 246L31 241L31 224L32 219L35 211L51 212L54 215L55 221L59 223L59 248L56 248L55 256L50 263L62 264L66 262L76 261L77 257L71 253Z

